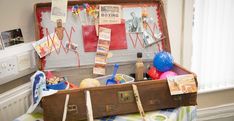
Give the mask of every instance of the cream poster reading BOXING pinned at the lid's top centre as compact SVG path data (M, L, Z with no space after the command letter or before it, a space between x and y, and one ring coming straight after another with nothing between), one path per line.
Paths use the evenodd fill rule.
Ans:
M120 5L100 5L99 24L120 24L121 6Z

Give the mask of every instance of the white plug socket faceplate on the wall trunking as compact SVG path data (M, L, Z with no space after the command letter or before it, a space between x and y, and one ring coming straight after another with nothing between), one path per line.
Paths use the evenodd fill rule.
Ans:
M0 79L18 73L17 58L10 57L0 60Z

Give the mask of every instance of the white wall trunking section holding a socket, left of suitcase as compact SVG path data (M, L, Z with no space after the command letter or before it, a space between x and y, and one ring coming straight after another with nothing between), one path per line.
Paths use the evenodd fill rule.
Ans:
M21 43L0 50L0 85L37 70L32 43Z

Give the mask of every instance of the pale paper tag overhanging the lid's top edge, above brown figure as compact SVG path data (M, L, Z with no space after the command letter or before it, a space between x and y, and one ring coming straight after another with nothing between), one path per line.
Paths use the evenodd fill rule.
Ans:
M66 22L67 1L68 0L52 0L51 21L57 22L58 19L61 19L63 23Z

